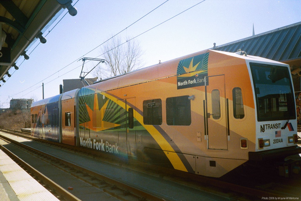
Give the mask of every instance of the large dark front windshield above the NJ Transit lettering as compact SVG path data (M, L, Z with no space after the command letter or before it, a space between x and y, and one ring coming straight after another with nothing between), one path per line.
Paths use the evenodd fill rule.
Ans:
M293 87L287 67L250 63L258 121L296 118Z

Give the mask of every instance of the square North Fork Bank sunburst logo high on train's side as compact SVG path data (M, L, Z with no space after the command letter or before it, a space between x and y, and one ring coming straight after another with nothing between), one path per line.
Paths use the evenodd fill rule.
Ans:
M205 77L208 76L208 57L209 52L179 62L177 89L205 86Z

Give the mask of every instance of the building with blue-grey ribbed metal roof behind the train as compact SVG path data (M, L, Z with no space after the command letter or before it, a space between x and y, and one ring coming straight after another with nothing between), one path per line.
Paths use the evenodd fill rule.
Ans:
M246 52L290 65L295 92L301 91L301 22L212 48Z

